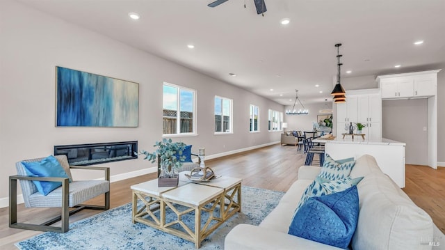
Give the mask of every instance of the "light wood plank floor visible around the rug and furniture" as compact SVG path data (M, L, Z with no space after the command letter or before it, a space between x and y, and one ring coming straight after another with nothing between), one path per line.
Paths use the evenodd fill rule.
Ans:
M298 153L295 146L268 146L236 155L206 161L218 175L243 178L243 185L287 191L298 179L298 167L305 162L305 155ZM406 187L403 191L426 210L435 224L445 232L445 168L434 170L428 166L406 165ZM131 185L156 178L154 173L111 183L111 208L131 202ZM99 204L102 199L93 199ZM60 213L60 209L25 209L18 205L19 221L45 221ZM70 217L70 223L101 211L83 210ZM0 249L16 249L13 245L41 232L24 231L8 227L8 208L0 208Z

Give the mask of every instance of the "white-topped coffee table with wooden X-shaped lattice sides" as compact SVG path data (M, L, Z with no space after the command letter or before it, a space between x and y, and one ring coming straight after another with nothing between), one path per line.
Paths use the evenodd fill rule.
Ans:
M157 179L131 186L132 218L133 223L139 222L195 242L198 249L205 237L236 212L241 212L242 179L223 176L198 184L188 180L184 173L190 172L179 173L178 187L158 187ZM143 202L139 209L138 200ZM168 211L175 212L177 219L166 221ZM204 212L209 215L207 221L201 219ZM187 226L182 217L193 213L194 224Z

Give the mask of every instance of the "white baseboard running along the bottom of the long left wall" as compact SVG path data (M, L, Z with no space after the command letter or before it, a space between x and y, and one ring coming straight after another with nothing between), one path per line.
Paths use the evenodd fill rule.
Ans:
M227 151L227 152L223 152L223 153L219 153L219 154L215 154L215 155L206 155L205 159L215 159L215 158L218 158L218 157L223 157L223 156L227 156L227 155L233 155L233 154L241 153L241 152L248 151L248 150L253 150L253 149L257 149L257 148L263 148L263 147L274 145L274 144L277 144L277 143L280 143L280 141L275 141L275 142L271 142L271 143L261 144L261 145L252 146L252 147L248 147L248 148L241 148L241 149L237 149L237 150ZM442 166L445 166L445 162L442 162L442 163L443 163ZM139 176L139 175L145 175L147 173L154 173L156 171L157 171L156 167L152 167L152 168L141 169L141 170L132 171L132 172L128 172L128 173L120 173L118 175L110 176L110 182L117 182L117 181L120 181L120 180L133 178L133 177L136 177L136 176ZM98 180L100 180L100 179L98 179ZM104 180L104 178L102 178L102 180ZM19 203L24 203L22 194L17 195L17 204L19 204ZM9 197L0 198L0 208L6 208L8 206L9 206Z

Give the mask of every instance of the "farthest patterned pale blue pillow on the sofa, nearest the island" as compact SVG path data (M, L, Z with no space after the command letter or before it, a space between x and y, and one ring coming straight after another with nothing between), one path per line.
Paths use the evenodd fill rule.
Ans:
M325 162L318 174L319 177L328 180L338 180L349 176L355 165L354 158L334 160L330 155L326 155Z

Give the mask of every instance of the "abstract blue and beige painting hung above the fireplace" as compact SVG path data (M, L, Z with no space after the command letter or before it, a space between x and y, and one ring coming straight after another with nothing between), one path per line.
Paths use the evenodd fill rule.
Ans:
M138 127L139 84L56 67L56 125Z

